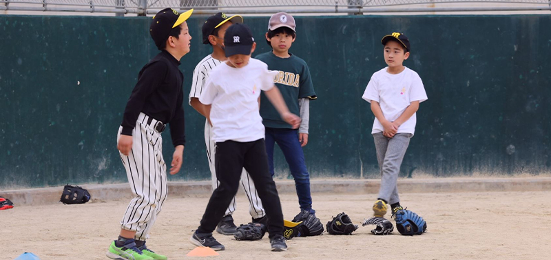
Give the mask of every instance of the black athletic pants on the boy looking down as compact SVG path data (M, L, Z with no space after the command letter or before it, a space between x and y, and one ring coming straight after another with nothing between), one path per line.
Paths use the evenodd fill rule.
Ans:
M216 143L214 159L216 177L220 186L212 192L207 210L201 219L199 234L209 234L214 231L218 222L224 217L225 211L239 188L241 171L249 172L262 200L268 217L268 232L272 238L283 234L283 213L278 190L268 170L268 159L264 139L251 142L224 141Z

